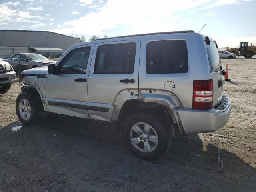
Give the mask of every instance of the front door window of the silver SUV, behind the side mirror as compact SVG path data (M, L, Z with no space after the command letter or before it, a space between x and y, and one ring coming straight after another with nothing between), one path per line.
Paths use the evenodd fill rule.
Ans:
M90 55L90 47L70 51L60 63L61 74L84 74Z

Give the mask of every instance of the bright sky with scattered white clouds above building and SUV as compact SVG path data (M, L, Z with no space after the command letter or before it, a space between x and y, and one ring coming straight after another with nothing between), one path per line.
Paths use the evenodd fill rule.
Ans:
M0 0L0 29L103 37L194 30L256 45L256 0Z

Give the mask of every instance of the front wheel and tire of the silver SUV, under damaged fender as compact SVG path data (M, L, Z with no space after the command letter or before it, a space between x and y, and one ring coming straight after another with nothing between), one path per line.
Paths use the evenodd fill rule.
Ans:
M16 114L22 124L27 126L36 124L39 117L39 113L36 109L36 106L30 99L28 93L22 92L17 97Z

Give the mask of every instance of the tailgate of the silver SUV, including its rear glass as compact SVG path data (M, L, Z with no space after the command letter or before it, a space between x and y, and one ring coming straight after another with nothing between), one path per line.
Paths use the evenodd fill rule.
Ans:
M210 72L213 80L213 101L212 106L215 107L222 100L224 76L221 74L222 65L218 50L214 42L210 42L210 45L206 45L208 60L210 64ZM227 54L226 54L227 55Z

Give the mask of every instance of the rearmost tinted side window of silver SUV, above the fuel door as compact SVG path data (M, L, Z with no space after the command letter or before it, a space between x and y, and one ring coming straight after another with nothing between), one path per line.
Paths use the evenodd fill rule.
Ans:
M149 74L188 72L186 41L163 40L148 42L146 72Z

